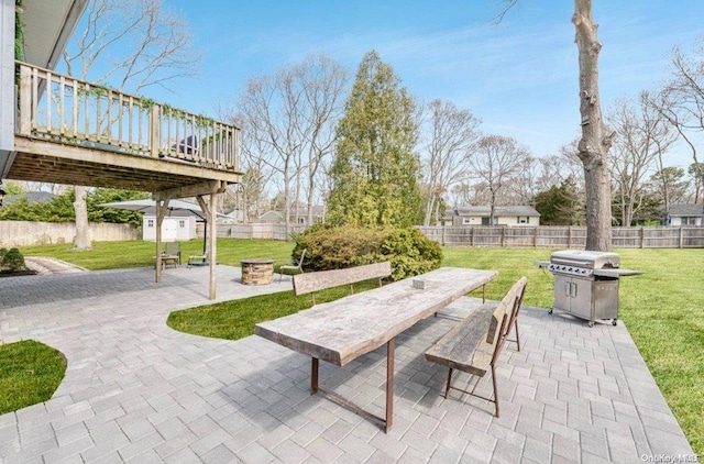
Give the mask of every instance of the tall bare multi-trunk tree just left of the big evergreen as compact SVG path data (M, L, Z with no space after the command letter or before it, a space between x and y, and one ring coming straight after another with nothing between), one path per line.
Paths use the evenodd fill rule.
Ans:
M309 56L300 64L282 67L274 77L250 79L238 100L252 143L262 159L280 175L287 230L292 197L297 205L304 172L312 222L315 178L334 144L333 124L341 113L346 80L346 71L332 59Z

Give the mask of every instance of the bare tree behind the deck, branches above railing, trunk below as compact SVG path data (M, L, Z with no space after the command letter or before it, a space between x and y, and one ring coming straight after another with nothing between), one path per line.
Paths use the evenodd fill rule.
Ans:
M85 27L64 52L72 76L136 95L148 86L167 88L197 68L188 22L161 0L92 0L85 15ZM75 246L89 250L86 188L75 192Z

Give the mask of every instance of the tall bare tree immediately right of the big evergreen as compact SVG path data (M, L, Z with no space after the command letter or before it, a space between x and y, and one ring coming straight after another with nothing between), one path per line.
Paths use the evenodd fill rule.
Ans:
M466 177L466 158L480 137L480 120L471 111L460 110L454 103L432 100L427 106L426 158L424 184L428 189L424 224L429 225L443 195L452 184Z

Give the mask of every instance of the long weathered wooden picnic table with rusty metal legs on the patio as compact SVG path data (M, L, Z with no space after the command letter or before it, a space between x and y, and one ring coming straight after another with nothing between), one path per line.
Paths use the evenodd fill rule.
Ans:
M311 357L310 389L356 412L393 424L395 338L458 298L484 287L495 270L442 267L381 288L256 324L254 333ZM416 285L414 285L416 280ZM419 285L420 284L420 285ZM420 288L419 288L420 287ZM338 366L386 344L386 415L376 417L318 385L319 360Z

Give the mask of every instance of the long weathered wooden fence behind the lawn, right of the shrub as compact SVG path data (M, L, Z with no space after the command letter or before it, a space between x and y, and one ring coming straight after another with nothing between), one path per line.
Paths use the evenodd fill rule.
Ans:
M546 246L583 248L584 227L496 225L419 227L427 237L442 245L464 246ZM616 248L701 248L703 227L613 228L612 244Z

